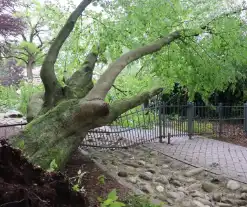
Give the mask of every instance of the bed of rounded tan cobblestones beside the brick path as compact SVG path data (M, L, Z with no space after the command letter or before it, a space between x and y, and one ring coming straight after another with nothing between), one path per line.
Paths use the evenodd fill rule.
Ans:
M166 202L165 206L247 206L246 184L194 168L148 148L83 150L119 180Z

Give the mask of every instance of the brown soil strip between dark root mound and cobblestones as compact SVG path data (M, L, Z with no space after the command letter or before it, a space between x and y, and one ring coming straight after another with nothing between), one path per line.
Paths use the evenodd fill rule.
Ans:
M82 177L82 183L84 183L86 195L91 206L99 206L97 198L106 198L107 194L113 189L117 190L120 200L124 200L128 196L128 188L119 184L114 178L102 171L91 159L77 151L66 166L66 174L68 177L73 177L77 175L79 170L86 173ZM104 184L99 182L99 177L102 175L104 176Z

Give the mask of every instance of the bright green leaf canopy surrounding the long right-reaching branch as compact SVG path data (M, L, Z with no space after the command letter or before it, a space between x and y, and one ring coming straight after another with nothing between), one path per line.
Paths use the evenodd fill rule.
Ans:
M223 3L115 1L105 8L106 17L97 17L101 41L115 59L126 49L181 31L181 38L139 60L138 67L161 79L167 90L179 82L188 87L191 97L194 92L208 97L246 74L246 24L240 17L245 5L229 8Z

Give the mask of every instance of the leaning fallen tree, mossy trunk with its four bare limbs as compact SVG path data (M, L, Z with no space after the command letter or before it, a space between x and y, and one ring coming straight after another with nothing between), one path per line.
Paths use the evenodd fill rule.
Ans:
M11 142L18 146L24 139L23 151L33 163L49 168L55 159L62 169L71 154L78 148L88 130L100 127L116 120L122 113L140 105L149 98L159 94L162 88L137 94L131 98L106 103L105 97L121 71L131 62L145 55L158 52L171 42L186 37L196 36L207 27L203 25L196 30L178 30L148 45L131 50L112 62L101 75L97 83L92 82L92 74L101 46L89 53L82 66L62 87L54 72L54 64L59 50L69 36L76 20L92 0L83 0L71 13L67 22L53 41L41 68L44 94L31 98L28 118L30 123L24 131ZM104 50L104 49L103 49Z

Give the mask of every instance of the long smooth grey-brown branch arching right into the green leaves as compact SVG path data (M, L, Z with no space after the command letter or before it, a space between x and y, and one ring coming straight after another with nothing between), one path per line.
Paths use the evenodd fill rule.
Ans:
M152 54L161 50L164 46L180 38L181 35L181 31L175 31L149 45L131 50L123 54L115 62L109 65L108 69L102 74L102 76L95 84L94 88L89 92L86 98L88 100L96 98L104 99L108 91L111 89L115 79L125 68L125 66L145 55Z

